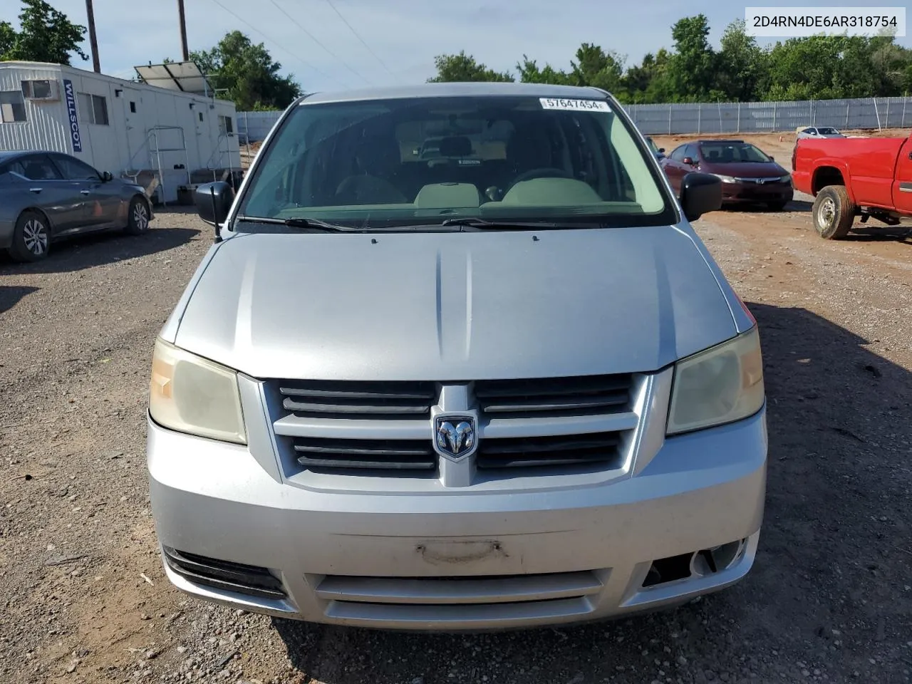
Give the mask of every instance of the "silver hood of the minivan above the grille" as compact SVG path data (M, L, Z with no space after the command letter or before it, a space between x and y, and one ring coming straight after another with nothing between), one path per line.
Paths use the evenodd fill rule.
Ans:
M177 316L179 347L254 378L649 371L737 332L673 226L238 234Z

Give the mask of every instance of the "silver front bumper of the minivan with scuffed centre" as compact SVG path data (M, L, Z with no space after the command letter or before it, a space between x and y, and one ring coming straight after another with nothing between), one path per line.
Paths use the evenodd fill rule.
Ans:
M489 629L672 606L746 575L762 523L765 408L664 440L627 479L529 492L358 492L356 478L347 491L295 487L245 447L148 427L159 542L192 554L190 565L165 561L171 583L311 622ZM719 546L714 569L690 555ZM237 579L249 573L230 564L213 572L240 590L193 581L212 576L210 561L268 570L281 592L254 596ZM671 581L644 587L657 567Z

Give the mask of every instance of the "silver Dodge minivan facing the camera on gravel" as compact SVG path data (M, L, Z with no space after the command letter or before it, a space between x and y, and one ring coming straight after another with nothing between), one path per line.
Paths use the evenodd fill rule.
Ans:
M433 141L433 155L417 155ZM532 627L674 606L753 564L761 347L596 88L426 84L289 107L154 345L175 586L319 623Z

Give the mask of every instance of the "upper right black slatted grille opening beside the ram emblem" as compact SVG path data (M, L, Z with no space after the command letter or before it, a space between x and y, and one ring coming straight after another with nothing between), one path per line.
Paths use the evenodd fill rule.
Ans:
M484 380L475 383L483 413L557 417L617 413L630 403L629 374L582 378Z

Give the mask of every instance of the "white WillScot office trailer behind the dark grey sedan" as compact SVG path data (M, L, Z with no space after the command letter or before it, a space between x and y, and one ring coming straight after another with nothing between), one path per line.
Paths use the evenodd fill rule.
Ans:
M59 64L0 62L0 150L66 152L139 181L158 202L175 202L199 182L235 178L233 102L209 97L192 63L137 71L162 68L176 76L150 85ZM193 92L200 84L206 92Z

